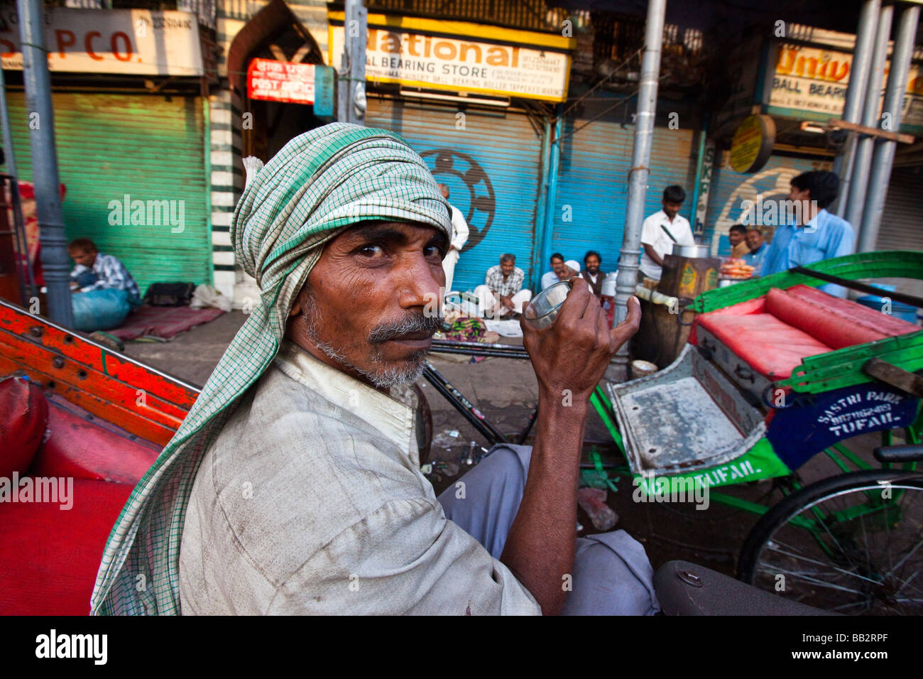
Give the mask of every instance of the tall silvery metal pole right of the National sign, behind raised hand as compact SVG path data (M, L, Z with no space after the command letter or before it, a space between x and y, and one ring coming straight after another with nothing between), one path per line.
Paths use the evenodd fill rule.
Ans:
M638 90L638 113L635 115L634 143L629 170L629 198L622 233L621 259L616 279L616 312L613 325L628 315L629 297L638 284L638 258L641 256L641 224L644 221L644 195L651 173L653 120L657 110L657 83L660 79L660 52L664 42L666 0L650 0L644 28L644 53L641 55L641 83ZM629 346L618 349L617 366L628 367Z

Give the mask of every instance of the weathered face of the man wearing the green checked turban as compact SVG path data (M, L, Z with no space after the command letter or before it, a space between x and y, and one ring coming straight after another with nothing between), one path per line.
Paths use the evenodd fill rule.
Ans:
M378 388L423 370L445 285L448 238L419 224L369 222L324 248L296 298L287 334L329 365Z

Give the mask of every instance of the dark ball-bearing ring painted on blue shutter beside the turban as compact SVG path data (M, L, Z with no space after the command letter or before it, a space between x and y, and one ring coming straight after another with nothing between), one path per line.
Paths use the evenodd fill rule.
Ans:
M450 149L422 152L436 181L449 187L449 202L462 211L470 229L468 242L462 250L472 249L484 240L497 212L494 187L484 168L470 155ZM464 190L467 190L467 196ZM467 200L467 204L465 204Z

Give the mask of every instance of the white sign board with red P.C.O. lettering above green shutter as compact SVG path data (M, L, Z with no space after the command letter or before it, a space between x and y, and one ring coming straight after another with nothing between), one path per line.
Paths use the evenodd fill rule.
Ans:
M2 10L3 67L22 70L16 6ZM48 68L78 73L201 76L198 19L187 12L148 9L49 8L45 14Z

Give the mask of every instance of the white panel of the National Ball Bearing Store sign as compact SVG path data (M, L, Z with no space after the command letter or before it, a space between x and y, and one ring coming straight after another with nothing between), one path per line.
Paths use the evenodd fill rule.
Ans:
M330 64L339 68L343 27L330 27ZM569 55L545 48L479 42L369 27L366 79L434 90L563 102Z

